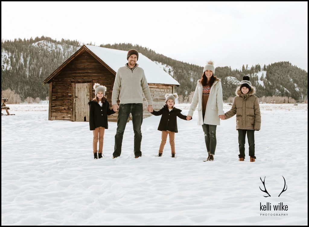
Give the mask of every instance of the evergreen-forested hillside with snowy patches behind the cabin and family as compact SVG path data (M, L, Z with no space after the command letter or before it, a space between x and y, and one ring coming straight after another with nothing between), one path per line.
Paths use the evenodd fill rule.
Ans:
M42 86L43 81L81 46L77 40L57 41L44 36L28 40L2 40L2 91L11 89L22 101L27 97L45 100L48 96L48 85ZM201 78L202 66L180 62L149 48L130 43L100 46L118 50L136 49L152 61L166 64L169 69L165 71L180 83L176 88L180 100L191 101L197 81ZM207 60L210 59L205 59L205 63ZM308 73L289 62L277 62L263 67L260 64L244 64L241 69L216 67L215 75L222 81L224 100L235 96L235 89L244 75L250 76L258 97L275 95L294 98L298 102L307 100Z

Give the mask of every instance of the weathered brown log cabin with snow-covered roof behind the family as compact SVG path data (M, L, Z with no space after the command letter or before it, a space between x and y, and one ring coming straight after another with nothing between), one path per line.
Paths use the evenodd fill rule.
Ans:
M138 55L137 63L145 72L153 108L161 109L165 94L174 93L180 84L146 56ZM106 86L105 95L112 108L116 72L126 63L127 51L83 45L43 81L43 85L49 84L48 120L89 121L88 102L95 97L95 83ZM143 118L151 116L145 98L143 104ZM117 121L117 113L108 116L108 121Z

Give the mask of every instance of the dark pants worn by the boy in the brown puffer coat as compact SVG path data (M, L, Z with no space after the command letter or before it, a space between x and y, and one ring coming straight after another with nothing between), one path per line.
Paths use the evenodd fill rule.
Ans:
M239 144L239 158L245 158L245 143L246 133L249 144L249 156L256 159L254 156L255 144L254 144L254 130L253 129L238 129L238 144Z

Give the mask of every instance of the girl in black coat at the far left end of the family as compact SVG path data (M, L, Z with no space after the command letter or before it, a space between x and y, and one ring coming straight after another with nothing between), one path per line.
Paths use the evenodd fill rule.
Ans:
M89 104L89 126L93 131L93 156L94 159L98 159L97 146L99 139L99 159L102 158L103 153L103 139L104 131L108 129L107 115L115 113L115 111L109 109L109 103L106 100L105 92L106 87L95 83L93 86L95 89L95 98L90 101Z

